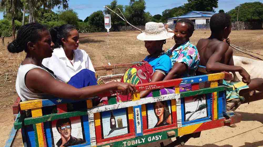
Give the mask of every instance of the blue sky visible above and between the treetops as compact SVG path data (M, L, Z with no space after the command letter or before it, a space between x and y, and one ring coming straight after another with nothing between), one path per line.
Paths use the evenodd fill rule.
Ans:
M78 13L79 19L84 20L87 16L92 14L97 10L103 10L103 6L110 4L112 0L69 0L69 7L72 8L75 12ZM118 4L128 5L129 0L118 0ZM146 11L149 11L151 15L162 14L165 9L171 9L174 7L179 7L184 3L187 3L187 0L145 0L146 2ZM235 8L239 4L245 2L263 2L263 0L239 0L239 1L230 1L230 0L219 0L218 8L216 12L220 9L225 10L225 12ZM55 8L54 11L58 9ZM0 13L0 19L3 19L3 13Z

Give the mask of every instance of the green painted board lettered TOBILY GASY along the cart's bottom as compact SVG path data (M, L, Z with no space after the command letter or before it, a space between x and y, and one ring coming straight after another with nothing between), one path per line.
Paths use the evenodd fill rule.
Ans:
M163 132L148 134L148 135L135 137L135 138L131 138L131 139L126 139L126 140L122 140L122 141L116 141L116 142L112 142L112 143L108 143L108 144L98 145L97 147L103 147L103 146L107 146L107 145L109 145L110 147L132 147L132 146L148 144L148 143L152 143L155 141L160 141L160 140L171 138L171 137L167 136L167 132L169 132L169 131L175 131L175 135L171 136L171 137L177 137L178 136L178 129L171 129L171 130L166 130ZM160 139L160 136L161 136L161 139ZM158 138L158 140L156 138Z

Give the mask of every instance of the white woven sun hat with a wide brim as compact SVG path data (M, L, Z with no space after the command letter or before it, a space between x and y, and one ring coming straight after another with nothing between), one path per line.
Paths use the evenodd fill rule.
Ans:
M163 23L148 22L145 24L145 32L139 34L137 36L137 39L152 41L152 40L164 40L164 39L172 38L173 36L174 33L167 32L166 29L164 28Z

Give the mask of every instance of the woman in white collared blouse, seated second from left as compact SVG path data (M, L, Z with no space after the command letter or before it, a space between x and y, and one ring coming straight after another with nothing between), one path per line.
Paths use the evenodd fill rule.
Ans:
M55 49L51 57L43 59L42 65L52 70L60 80L68 82L83 69L95 72L89 55L78 49L79 33L74 26L64 24L54 27L50 29L50 35Z

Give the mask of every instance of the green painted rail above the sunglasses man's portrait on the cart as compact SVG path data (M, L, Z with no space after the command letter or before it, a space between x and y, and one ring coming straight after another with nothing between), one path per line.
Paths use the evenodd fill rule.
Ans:
M82 115L87 115L87 110L82 110L82 111L75 111L75 112L66 112L66 113L54 113L54 114L48 114L44 115L41 117L36 117L36 118L25 118L24 124L29 125L29 124L36 124L36 123L42 123L42 122L49 122L52 120L57 120L57 119L63 119L63 118L70 118L70 117L75 117L75 116L82 116Z

